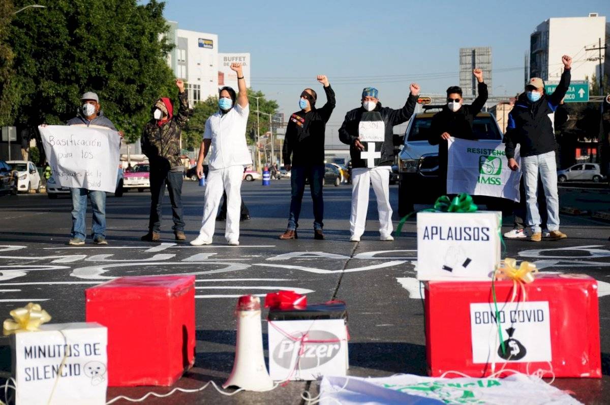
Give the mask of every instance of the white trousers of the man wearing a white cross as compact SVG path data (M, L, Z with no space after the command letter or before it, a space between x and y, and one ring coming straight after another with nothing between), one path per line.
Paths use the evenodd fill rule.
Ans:
M359 167L351 170L351 236L360 238L367 222L368 192L373 183L379 213L379 233L390 236L394 230L392 224L392 206L390 206L390 166L379 166L373 169Z

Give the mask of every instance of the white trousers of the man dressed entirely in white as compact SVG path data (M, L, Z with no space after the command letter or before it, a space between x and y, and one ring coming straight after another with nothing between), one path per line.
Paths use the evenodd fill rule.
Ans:
M223 191L227 193L227 218L224 238L227 241L239 240L242 178L242 165L229 166L225 169L210 169L207 174L206 191L203 194L203 219L201 219L201 230L199 230L199 235L203 236L206 241L212 241L212 236L214 236L216 214L220 199L223 197Z

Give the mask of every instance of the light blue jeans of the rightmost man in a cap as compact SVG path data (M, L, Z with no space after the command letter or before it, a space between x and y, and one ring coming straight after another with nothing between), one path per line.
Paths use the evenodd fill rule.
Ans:
M542 180L542 188L547 197L547 229L559 230L559 194L557 191L557 163L555 152L550 151L542 155L523 156L521 158L523 170L523 186L525 187L528 225L532 232L541 232L540 213L538 211L538 174Z

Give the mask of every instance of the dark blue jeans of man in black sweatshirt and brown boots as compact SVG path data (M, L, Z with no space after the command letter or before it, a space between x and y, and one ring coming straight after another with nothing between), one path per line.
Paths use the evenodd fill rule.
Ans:
M301 202L305 191L305 179L309 178L311 199L314 200L314 229L321 229L324 224L324 200L322 199L322 181L324 180L324 165L320 166L293 166L290 170L290 186L292 198L290 199L290 215L287 229L296 230L299 226Z

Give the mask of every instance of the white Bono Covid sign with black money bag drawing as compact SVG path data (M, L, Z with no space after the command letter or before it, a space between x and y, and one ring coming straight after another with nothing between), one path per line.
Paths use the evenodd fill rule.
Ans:
M500 321L504 351L500 343ZM470 304L473 363L550 362L551 327L548 301Z

